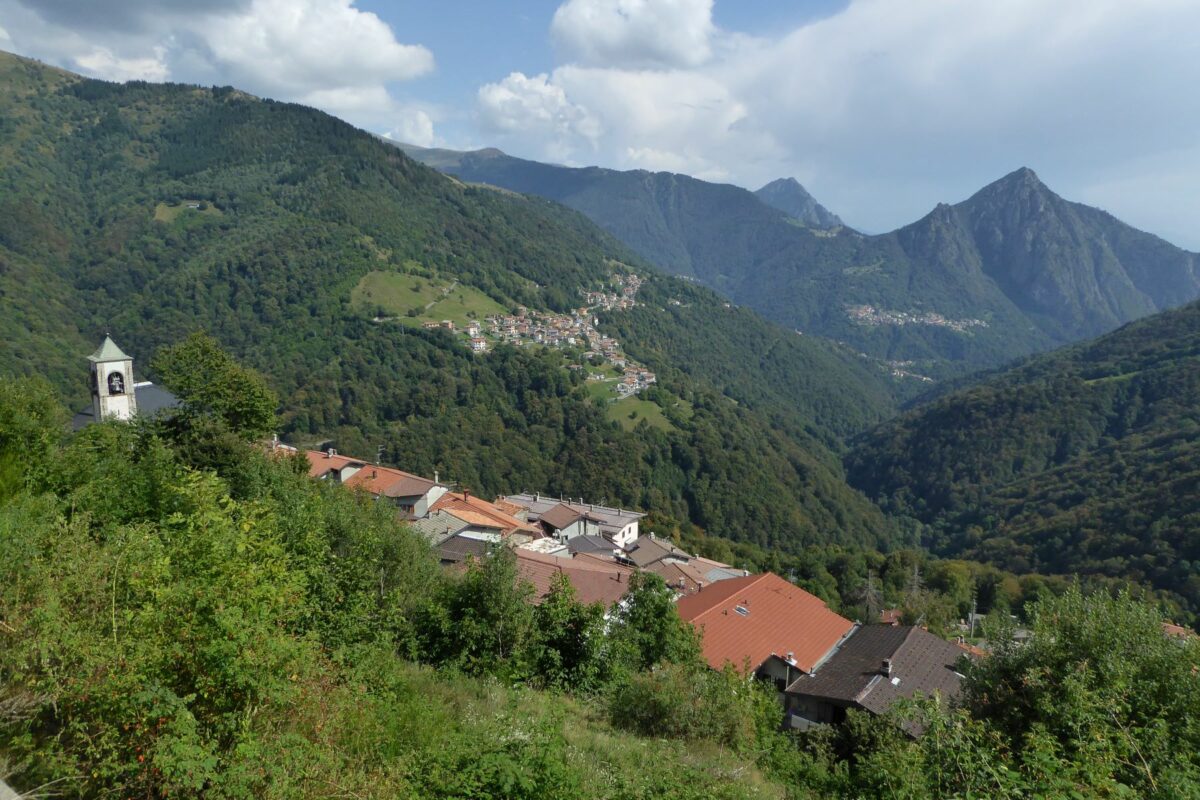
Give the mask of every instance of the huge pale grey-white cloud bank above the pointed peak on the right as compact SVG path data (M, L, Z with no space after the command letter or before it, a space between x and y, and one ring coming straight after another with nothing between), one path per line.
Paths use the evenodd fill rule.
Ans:
M703 13L662 16L685 5ZM551 134L514 113L492 126L497 144L751 188L794 175L871 230L1026 164L1067 197L1200 247L1186 222L1200 187L1180 180L1200 167L1200 60L1181 35L1200 30L1194 0L853 0L767 38L712 29L708 8L568 0L552 24L564 64L536 94L594 133ZM696 18L703 35L679 22ZM662 42L646 43L647 19Z

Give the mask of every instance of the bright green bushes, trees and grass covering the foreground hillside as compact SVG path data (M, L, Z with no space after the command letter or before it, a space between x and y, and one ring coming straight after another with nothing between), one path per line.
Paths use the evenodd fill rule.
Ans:
M1031 600L965 693L779 730L655 576L605 622L506 551L443 572L386 506L257 444L265 381L191 338L182 405L67 435L0 384L0 775L58 796L1183 798L1200 639L1126 594ZM901 723L919 724L912 739ZM649 768L648 768L649 766Z

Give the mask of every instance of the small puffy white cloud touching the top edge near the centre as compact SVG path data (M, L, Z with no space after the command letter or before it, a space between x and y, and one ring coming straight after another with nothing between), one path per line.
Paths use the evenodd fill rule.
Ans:
M568 0L551 23L569 60L622 68L700 66L715 30L713 0Z

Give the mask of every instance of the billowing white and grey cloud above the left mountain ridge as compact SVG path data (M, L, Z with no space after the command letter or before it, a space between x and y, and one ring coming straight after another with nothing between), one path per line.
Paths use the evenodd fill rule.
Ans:
M98 6L0 0L0 19L23 54L92 77L233 84L358 125L390 125L390 84L433 70L427 48L401 43L354 0L130 0L108 16Z

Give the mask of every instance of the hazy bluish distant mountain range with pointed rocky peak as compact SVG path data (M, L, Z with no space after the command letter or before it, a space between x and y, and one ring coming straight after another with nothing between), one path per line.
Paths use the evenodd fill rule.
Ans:
M670 173L404 149L463 180L564 203L668 271L918 374L998 366L1200 295L1195 253L1062 199L1026 168L868 236L816 227L829 217L806 212L806 192L786 180L756 196ZM798 224L805 215L812 227Z

